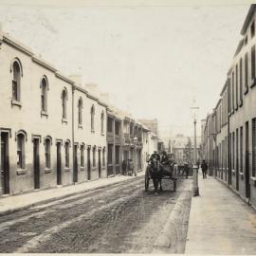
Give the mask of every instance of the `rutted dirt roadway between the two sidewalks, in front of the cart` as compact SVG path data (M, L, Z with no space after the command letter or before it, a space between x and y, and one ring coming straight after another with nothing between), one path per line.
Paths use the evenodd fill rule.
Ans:
M0 252L184 253L191 182L180 179L173 192L165 180L164 191L155 194L152 183L144 192L144 179L137 177L3 216ZM179 229L166 226L174 208ZM169 239L167 247L159 243L161 235Z

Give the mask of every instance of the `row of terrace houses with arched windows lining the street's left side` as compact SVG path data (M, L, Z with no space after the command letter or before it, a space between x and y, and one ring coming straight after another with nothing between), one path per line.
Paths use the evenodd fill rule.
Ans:
M0 60L0 195L121 173L127 157L122 147L125 118L111 114L111 107L91 90L93 84L83 86L64 76L2 30ZM115 119L112 128L110 117ZM141 170L141 126L130 119L131 136L138 138L133 157ZM107 142L111 131L115 154Z

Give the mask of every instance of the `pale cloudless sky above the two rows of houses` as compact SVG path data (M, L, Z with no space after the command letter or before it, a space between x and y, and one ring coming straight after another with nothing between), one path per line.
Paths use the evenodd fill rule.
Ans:
M215 107L241 39L246 1L0 0L5 32L65 75L82 75L162 136L193 135ZM193 103L195 101L195 103Z

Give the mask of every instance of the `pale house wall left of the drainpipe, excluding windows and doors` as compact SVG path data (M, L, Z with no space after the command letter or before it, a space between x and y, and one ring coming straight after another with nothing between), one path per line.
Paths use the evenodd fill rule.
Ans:
M11 62L18 58L22 65L21 78L21 106L11 104ZM56 77L54 72L36 64L27 54L7 44L2 44L0 49L0 127L10 129L9 137L9 192L24 192L33 190L33 135L41 137L39 145L40 158L40 188L56 185L56 139L71 141L72 138L72 85ZM43 76L48 81L47 91L47 116L41 115L41 88L40 81ZM62 121L62 91L67 91L67 122ZM24 130L26 133L25 153L26 166L17 170L17 141L16 133ZM51 168L45 168L44 138L51 137ZM70 145L71 146L71 145ZM64 148L62 147L64 157ZM71 157L71 155L70 155ZM62 183L72 182L72 161L70 168L62 168Z

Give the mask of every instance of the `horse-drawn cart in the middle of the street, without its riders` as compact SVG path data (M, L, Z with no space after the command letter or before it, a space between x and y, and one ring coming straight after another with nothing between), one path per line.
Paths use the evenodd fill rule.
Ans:
M151 179L153 180L155 191L158 190L158 184L160 184L160 191L162 191L162 179L169 179L173 182L173 188L175 192L177 186L177 169L174 165L161 165L157 169L153 168L151 165L148 165L145 173L146 192L149 189Z

